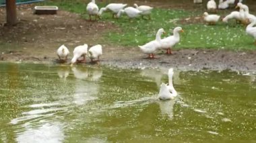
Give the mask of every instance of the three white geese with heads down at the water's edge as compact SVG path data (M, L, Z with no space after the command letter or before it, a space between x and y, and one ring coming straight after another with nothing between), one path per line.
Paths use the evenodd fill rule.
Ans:
M89 54L88 54L89 53ZM76 46L73 50L73 58L71 59L71 65L75 64L75 62L79 61L80 57L83 57L83 60L86 61L86 55L93 62L94 59L100 60L100 56L102 55L102 46L100 44L96 46L92 46L88 50L88 44ZM67 56L69 56L69 49L62 45L57 49L57 56L59 60L67 60Z

